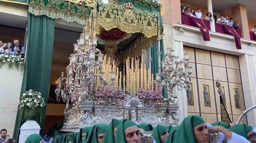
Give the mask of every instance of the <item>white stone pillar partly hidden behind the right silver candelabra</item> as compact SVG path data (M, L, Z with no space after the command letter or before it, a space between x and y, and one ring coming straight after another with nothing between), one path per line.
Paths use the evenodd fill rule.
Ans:
M183 52L183 42L173 40L173 49L175 50L175 55L179 56L180 59L183 59L184 52ZM187 93L186 90L178 90L175 88L173 93L176 93L176 95L179 95L179 114L180 114L180 123L183 121L185 117L188 116L187 114Z

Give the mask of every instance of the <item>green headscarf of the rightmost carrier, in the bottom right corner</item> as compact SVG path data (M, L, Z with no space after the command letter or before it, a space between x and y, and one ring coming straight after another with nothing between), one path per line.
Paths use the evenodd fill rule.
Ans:
M230 129L231 132L243 136L245 139L248 139L247 134L250 133L252 130L253 128L246 124L235 124Z

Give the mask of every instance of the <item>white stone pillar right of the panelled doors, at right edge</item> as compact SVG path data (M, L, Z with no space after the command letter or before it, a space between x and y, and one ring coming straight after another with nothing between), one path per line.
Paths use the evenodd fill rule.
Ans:
M239 65L245 109L248 109L256 105L256 56L248 54L239 56ZM249 125L256 126L256 109L248 113L247 121Z

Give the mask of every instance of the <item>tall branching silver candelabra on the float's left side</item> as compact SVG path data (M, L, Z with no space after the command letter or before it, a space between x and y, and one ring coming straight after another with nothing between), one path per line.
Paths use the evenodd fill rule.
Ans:
M103 54L97 46L97 37L86 33L85 30L74 44L74 54L69 57L70 63L67 66L67 76L61 72L59 83L55 89L57 102L62 99L67 105L72 95L77 94L81 101L92 102L95 91L95 78L99 77L101 86L108 83L104 79L102 72ZM95 72L97 70L98 72ZM98 73L98 74L96 74ZM110 72L112 83L107 86L107 90L112 90L115 84L115 73ZM68 107L67 107L68 108Z

